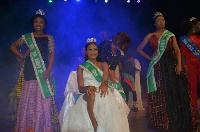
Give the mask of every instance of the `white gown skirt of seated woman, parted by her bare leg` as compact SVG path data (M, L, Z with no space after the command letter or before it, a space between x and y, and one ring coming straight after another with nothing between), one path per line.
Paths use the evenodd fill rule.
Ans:
M83 95L68 109L61 132L94 132ZM98 123L97 132L130 132L129 108L116 89L111 89L105 97L96 93L93 111Z

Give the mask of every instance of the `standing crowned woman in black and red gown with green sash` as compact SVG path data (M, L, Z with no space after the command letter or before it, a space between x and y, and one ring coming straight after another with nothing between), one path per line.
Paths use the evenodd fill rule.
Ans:
M166 30L160 12L154 14L156 31L146 35L137 51L150 60L147 72L147 122L155 130L192 129L189 85L181 67L181 54L175 35ZM154 54L143 48L150 42Z

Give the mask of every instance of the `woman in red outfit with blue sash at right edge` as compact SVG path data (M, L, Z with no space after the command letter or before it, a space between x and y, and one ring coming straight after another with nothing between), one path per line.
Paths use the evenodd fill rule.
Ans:
M186 68L192 90L192 102L195 109L197 105L197 84L200 82L200 22L195 17L190 21L183 21L180 37L181 55Z

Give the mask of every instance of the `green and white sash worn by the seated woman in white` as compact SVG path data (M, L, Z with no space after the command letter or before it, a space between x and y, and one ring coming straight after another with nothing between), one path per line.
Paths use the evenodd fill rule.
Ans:
M94 78L99 83L101 83L103 81L103 76L101 75L101 73L99 72L97 67L92 62L86 61L81 66L88 69L88 71L90 71L90 73L94 76ZM119 93L121 94L121 96L123 97L123 99L126 100L126 95L125 95L124 90L119 82L114 83L114 82L108 81L108 87L117 89L119 91Z

